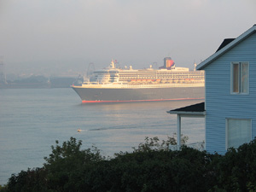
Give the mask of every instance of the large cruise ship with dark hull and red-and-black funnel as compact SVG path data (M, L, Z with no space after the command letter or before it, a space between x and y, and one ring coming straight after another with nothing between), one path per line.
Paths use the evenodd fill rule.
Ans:
M154 69L109 67L93 72L90 79L72 88L83 103L90 102L153 102L168 100L204 99L204 72L176 67L171 57L164 66Z

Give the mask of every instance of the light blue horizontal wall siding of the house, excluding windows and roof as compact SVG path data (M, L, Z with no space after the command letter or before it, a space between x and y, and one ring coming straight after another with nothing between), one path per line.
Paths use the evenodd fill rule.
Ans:
M249 94L230 94L230 63L249 62ZM210 153L226 152L225 119L252 119L256 137L256 33L228 50L204 68L206 75L206 148Z

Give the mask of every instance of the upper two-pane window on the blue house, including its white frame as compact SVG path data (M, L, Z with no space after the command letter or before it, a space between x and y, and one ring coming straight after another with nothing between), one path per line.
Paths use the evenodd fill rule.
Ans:
M231 93L249 93L249 64L247 62L231 63Z

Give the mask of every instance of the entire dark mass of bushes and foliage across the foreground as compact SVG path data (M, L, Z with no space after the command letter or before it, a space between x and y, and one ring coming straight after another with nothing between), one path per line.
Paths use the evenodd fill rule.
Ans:
M73 137L56 141L42 168L13 174L0 191L256 191L256 140L224 155L170 150L175 143L146 137L133 152L107 159Z

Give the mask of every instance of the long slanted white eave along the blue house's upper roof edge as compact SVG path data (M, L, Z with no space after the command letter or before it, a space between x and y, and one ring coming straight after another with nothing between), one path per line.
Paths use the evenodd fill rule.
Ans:
M253 25L251 28L249 28L246 32L243 32L238 38L234 39L230 44L227 44L224 46L224 48L219 49L216 53L209 56L205 61L202 61L197 67L197 70L202 70L204 67L207 67L212 61L216 60L220 55L223 55L226 51L236 46L236 44L239 44L241 41L243 41L245 38L249 37L253 34L253 32L256 31L256 25Z

